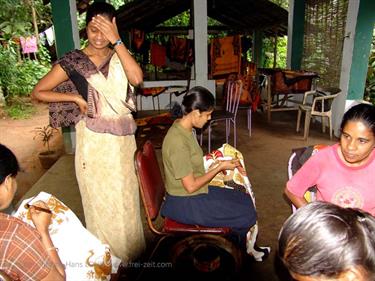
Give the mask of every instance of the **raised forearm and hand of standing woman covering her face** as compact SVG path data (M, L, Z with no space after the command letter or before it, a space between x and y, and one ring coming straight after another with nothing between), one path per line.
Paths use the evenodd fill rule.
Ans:
M116 18L110 22L108 19L101 15L97 15L93 18L92 22L94 25L107 37L111 44L115 44L120 39L120 35L117 30ZM124 68L126 77L130 84L138 86L143 82L143 72L139 64L129 53L125 44L119 44L114 47L117 56L119 57L122 67Z

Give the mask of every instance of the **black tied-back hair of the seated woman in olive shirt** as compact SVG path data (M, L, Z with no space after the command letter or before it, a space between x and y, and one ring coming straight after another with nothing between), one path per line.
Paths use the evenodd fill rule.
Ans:
M182 100L182 112L184 115L198 109L199 112L214 109L215 98L209 90L196 86L191 88Z

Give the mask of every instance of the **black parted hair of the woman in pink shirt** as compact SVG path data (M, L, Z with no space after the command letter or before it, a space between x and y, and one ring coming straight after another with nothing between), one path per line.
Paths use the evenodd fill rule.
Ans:
M375 106L361 103L351 107L345 112L341 121L341 132L349 121L360 121L364 123L375 136Z

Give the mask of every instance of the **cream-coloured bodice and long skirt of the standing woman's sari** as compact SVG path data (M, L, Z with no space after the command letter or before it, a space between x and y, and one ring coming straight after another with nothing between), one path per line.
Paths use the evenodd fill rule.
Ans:
M97 92L99 120L114 126L118 126L119 119L134 122L128 108L132 105L126 106L125 102L128 80L116 54L111 58L107 78L98 71L86 80L89 91L91 88ZM133 162L135 137L98 133L88 129L87 122L84 118L76 124L75 158L86 227L109 244L116 256L129 262L145 249Z

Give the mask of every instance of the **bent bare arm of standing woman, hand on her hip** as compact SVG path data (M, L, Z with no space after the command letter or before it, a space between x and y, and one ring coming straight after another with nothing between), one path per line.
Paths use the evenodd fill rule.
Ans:
M53 89L68 80L69 77L59 64L53 66L39 82L35 85L32 91L32 97L44 102L75 102L82 113L87 110L86 101L74 93L57 93Z

